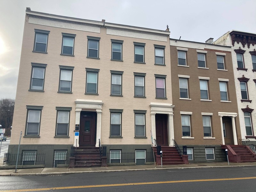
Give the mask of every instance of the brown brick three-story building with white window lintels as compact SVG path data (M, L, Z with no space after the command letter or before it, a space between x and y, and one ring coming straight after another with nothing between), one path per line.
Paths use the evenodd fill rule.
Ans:
M231 47L170 39L174 138L188 159L223 161L241 138Z

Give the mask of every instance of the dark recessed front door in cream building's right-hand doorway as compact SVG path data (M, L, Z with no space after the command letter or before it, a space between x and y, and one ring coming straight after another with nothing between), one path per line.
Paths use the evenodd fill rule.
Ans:
M156 114L156 141L158 145L168 145L166 114Z

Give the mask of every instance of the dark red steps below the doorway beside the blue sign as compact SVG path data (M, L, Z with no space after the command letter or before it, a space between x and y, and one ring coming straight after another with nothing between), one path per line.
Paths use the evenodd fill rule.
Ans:
M100 167L99 147L77 147L75 149L75 168L78 167Z

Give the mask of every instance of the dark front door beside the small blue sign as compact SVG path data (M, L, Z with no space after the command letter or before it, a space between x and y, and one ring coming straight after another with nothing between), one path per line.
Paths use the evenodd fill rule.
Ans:
M80 113L79 146L95 146L95 112Z

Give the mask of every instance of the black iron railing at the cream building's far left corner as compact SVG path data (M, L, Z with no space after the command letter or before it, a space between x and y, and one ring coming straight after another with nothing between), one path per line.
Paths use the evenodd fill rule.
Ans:
M18 165L44 165L45 153L19 154ZM5 153L3 165L16 165L17 154Z

